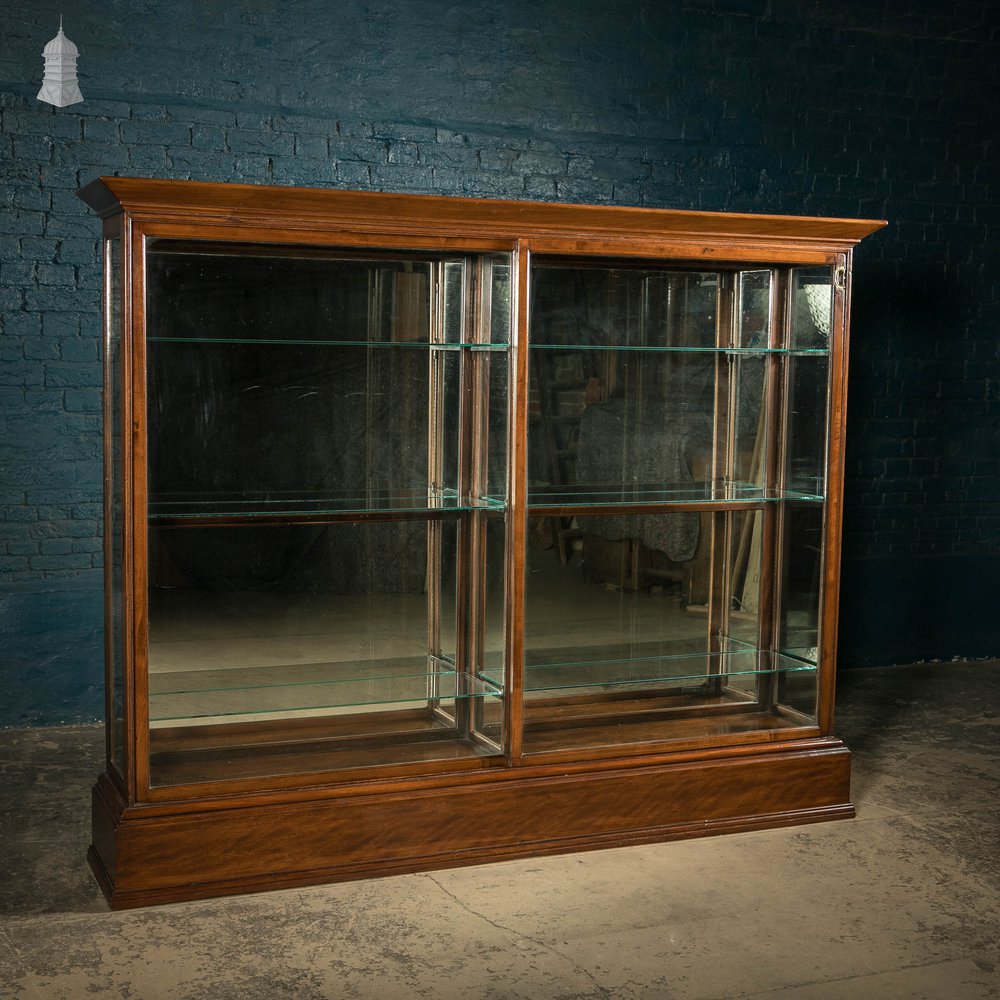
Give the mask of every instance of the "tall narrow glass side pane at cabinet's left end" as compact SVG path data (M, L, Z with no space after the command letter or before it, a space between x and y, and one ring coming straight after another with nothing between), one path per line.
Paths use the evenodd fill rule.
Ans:
M105 331L104 331L104 430L107 436L107 467L105 470L105 558L110 574L107 594L109 635L107 637L110 658L108 685L110 688L109 707L110 757L119 774L125 773L125 653L124 621L122 608L124 558L124 518L122 512L122 490L124 470L122 465L122 253L121 239L105 240L104 243Z

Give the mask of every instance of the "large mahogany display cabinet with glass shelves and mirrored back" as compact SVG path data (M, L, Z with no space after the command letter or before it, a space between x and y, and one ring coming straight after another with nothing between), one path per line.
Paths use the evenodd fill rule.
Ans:
M114 907L852 815L881 223L103 178Z

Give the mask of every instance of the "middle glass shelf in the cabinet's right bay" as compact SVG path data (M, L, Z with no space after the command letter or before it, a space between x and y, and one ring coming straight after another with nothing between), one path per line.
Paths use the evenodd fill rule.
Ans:
M815 485L815 484L814 484ZM530 486L528 507L669 507L672 504L762 504L783 500L821 501L819 493L794 490L769 490L754 483L611 483Z

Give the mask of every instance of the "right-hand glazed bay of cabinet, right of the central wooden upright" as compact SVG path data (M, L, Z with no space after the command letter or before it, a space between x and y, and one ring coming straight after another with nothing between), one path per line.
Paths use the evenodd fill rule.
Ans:
M824 488L826 345L780 293L814 272L536 261L525 752L808 724L774 593L784 504Z

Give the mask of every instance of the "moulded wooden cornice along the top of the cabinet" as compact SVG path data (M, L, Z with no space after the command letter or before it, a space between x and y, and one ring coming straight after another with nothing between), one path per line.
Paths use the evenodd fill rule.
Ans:
M383 232L591 239L767 241L848 249L886 223L866 219L749 215L610 205L458 198L426 194L101 177L78 192L106 217L336 225Z

